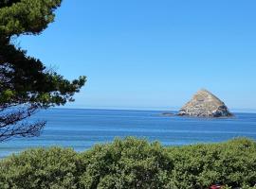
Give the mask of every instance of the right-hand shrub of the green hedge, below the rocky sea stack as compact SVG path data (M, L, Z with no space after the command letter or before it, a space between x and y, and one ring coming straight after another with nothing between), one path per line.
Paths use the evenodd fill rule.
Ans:
M238 187L256 184L256 143L237 139L217 145L170 147L177 188L206 188L221 182Z

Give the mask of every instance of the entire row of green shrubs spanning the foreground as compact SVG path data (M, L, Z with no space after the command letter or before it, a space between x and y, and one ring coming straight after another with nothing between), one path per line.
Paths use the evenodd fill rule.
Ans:
M83 153L60 147L30 149L0 162L1 189L204 189L217 181L227 188L253 188L254 141L163 147L127 138Z

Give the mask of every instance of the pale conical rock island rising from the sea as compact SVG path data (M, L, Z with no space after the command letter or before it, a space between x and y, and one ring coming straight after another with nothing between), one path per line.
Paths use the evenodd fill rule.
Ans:
M178 115L195 117L232 116L225 103L205 89L194 94L192 100L181 108Z

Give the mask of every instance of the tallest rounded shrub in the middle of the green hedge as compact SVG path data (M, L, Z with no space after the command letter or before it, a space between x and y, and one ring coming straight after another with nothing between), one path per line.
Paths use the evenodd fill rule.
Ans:
M158 143L127 138L82 153L84 188L165 188L173 162Z

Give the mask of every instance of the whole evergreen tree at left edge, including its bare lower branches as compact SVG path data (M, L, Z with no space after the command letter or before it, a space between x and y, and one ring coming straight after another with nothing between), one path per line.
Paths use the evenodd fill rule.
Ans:
M85 77L69 81L41 60L27 56L13 42L20 35L39 35L54 21L61 0L0 1L0 142L13 136L36 136L45 122L26 118L41 109L73 101Z

